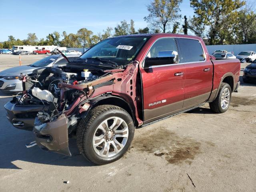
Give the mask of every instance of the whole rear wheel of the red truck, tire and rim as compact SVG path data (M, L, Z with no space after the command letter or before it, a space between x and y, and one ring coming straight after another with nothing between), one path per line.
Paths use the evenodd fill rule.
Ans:
M231 88L227 83L220 85L220 90L216 99L209 103L210 109L216 113L224 113L228 110L231 101Z

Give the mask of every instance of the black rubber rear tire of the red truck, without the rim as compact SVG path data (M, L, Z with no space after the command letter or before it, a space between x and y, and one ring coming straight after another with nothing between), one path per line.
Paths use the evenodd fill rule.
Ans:
M222 93L223 93L224 89L226 89L226 88L229 89L230 99L229 99L227 108L223 109L221 107L221 96L222 96ZM215 113L224 113L224 112L226 112L228 110L229 106L230 106L231 94L232 94L232 91L231 91L230 85L227 84L227 83L221 83L220 90L218 92L218 96L216 97L216 99L213 102L209 103L210 109Z

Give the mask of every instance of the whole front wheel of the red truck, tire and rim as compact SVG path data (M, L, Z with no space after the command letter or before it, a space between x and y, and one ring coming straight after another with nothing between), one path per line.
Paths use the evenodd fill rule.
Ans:
M77 145L83 156L103 165L120 159L134 136L134 123L124 109L101 105L82 119L77 130Z

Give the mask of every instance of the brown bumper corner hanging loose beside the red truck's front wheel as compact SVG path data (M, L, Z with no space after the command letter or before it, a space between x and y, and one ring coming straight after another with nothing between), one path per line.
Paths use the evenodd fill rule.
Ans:
M68 148L68 119L64 114L46 123L36 118L33 133L36 143L42 150L71 156Z

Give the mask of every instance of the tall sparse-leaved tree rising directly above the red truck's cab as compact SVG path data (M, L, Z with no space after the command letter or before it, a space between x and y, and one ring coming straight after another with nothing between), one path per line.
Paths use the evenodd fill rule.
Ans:
M178 14L181 2L182 0L153 0L147 6L149 15L144 17L144 20L153 30L160 28L165 33L166 29L181 17Z

